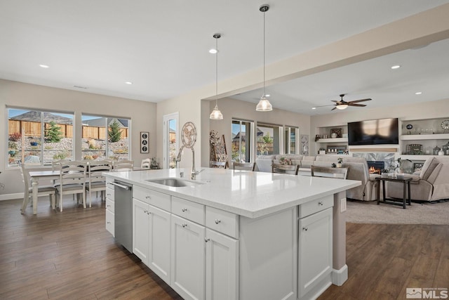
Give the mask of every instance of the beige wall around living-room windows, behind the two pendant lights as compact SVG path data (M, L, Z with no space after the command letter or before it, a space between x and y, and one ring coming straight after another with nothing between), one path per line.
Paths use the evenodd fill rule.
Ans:
M203 117L207 121L203 123L203 145L201 152L201 164L204 167L209 165L209 140L206 138L211 130L218 131L220 136L225 134L226 148L228 153L228 159L231 160L231 145L232 145L232 119L243 119L253 122L261 122L268 124L276 124L281 126L295 126L300 129L301 134L309 134L310 132L310 116L301 115L295 112L289 112L287 110L278 110L274 108L271 112L257 112L255 110L255 103L248 103L241 100L235 100L232 98L223 98L218 102L218 107L223 114L222 120L209 119L210 112L215 107L215 101L206 101L208 105L203 105ZM299 141L299 136L297 137Z

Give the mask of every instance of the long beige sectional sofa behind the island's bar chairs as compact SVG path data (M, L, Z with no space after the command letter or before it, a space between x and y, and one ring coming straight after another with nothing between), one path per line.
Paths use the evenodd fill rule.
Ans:
M279 163L281 157L291 159L292 164L299 164L300 171L298 175L306 176L310 176L310 167L312 165L330 167L333 163L337 163L339 157L342 157L342 167L348 168L347 178L361 181L362 183L356 188L347 190L347 197L362 201L376 200L377 182L374 179L376 175L369 174L368 163L362 157L350 157L347 155L263 155L256 159L256 171L271 172L272 162Z

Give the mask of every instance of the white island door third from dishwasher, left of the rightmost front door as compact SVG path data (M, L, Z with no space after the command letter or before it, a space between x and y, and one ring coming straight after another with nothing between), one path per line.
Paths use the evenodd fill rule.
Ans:
M204 226L171 215L171 287L184 299L205 299Z

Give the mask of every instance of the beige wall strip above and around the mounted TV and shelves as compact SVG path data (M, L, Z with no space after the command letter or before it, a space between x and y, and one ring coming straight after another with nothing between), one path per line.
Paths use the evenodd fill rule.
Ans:
M369 119L399 118L401 119L436 119L449 118L449 98L425 103L409 105L394 105L389 107L351 107L348 110L334 110L327 115L312 116L310 119L310 135L318 134L317 127L340 126L348 122L357 122ZM311 153L316 154L319 144L314 140L309 142Z

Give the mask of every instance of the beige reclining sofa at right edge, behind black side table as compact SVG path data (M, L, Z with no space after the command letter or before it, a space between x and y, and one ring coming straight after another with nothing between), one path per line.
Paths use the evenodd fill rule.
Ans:
M430 157L424 162L419 175L412 176L410 195L412 200L436 201L449 199L449 157ZM403 197L403 183L388 181L386 197Z

